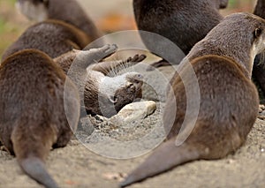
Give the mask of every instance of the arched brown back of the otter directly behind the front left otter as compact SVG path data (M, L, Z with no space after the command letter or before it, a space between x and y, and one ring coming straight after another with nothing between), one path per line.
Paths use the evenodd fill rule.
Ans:
M39 49L55 58L71 51L83 49L91 41L81 30L60 20L46 20L30 26L6 49L2 59L21 49Z

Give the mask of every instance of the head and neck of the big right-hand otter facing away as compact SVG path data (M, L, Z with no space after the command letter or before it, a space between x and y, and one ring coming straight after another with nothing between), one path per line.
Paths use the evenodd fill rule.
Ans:
M254 57L265 50L265 20L251 13L239 12L226 16L188 55L200 50L201 55L226 56L240 64L250 77Z

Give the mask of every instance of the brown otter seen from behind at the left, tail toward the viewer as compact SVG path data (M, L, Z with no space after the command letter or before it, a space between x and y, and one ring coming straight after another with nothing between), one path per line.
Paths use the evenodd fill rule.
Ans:
M44 167L51 147L65 147L79 121L76 86L53 60L21 50L0 65L0 139L21 169L46 187L57 187ZM69 117L67 118L66 115Z

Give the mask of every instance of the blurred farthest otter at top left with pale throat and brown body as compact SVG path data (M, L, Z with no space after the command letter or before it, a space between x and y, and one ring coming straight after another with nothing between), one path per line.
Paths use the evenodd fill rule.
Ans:
M17 7L28 19L58 19L76 26L95 41L102 36L76 0L18 0Z

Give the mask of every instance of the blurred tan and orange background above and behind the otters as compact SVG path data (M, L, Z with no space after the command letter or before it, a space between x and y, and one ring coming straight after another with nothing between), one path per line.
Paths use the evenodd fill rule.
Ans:
M104 33L136 29L133 18L133 0L78 0L95 25ZM15 8L16 0L0 0L0 59L6 49L19 35L33 24ZM222 12L227 15L236 11L254 10L254 0L230 0Z

